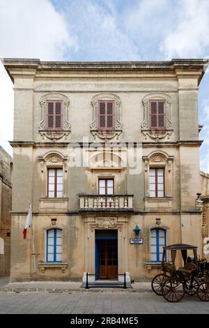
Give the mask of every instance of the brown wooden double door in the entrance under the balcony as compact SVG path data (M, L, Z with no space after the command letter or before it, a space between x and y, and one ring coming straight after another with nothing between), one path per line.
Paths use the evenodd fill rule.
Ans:
M118 279L118 240L98 240L99 279Z

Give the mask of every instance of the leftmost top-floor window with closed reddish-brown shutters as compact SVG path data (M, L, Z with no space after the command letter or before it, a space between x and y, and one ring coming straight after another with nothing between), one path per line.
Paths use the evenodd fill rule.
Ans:
M47 126L52 130L61 130L62 128L62 110L61 101L48 101L47 103Z

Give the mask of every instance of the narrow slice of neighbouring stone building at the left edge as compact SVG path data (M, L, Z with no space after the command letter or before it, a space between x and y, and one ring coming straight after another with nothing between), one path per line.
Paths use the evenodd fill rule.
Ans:
M0 146L0 276L10 275L12 159Z

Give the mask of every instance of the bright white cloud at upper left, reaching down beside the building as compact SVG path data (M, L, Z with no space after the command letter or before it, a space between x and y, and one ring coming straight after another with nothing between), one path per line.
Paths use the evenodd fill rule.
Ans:
M49 0L0 0L0 40L0 57L62 60L67 50L77 50L76 38ZM13 84L2 65L0 99L0 144L11 154Z

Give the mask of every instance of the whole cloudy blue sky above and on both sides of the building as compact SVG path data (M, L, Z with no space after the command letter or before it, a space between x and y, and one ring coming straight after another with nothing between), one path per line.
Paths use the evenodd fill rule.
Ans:
M42 61L209 59L209 0L0 0L0 57ZM209 72L199 87L209 172ZM13 83L0 64L0 144L13 154Z

